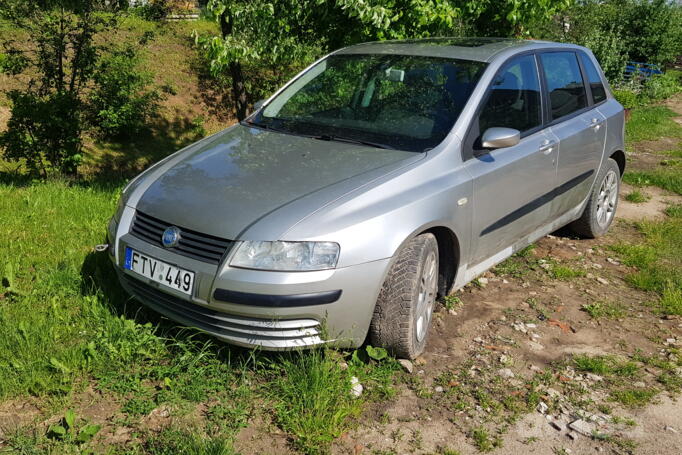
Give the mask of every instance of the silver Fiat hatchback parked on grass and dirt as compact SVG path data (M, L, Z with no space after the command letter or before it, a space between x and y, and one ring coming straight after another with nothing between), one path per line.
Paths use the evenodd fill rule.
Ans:
M437 296L561 226L606 232L623 127L580 46L351 46L131 181L109 252L139 301L229 343L414 358Z

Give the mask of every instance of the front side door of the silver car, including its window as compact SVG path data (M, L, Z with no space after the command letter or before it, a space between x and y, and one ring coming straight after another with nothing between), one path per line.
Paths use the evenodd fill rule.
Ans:
M556 185L556 143L543 126L543 95L536 57L513 57L488 89L465 141L473 177L472 256L478 264L545 224ZM480 137L492 127L514 128L513 147L484 150Z

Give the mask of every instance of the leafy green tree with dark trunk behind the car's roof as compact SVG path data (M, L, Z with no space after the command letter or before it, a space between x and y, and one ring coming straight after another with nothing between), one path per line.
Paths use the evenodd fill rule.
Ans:
M238 119L248 114L245 67L286 67L363 41L520 36L570 0L210 0L220 36L197 45L215 77L229 75Z

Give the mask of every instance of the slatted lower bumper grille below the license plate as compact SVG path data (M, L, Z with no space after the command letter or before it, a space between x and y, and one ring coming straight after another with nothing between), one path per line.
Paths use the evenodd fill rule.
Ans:
M244 318L211 310L159 291L124 275L125 284L142 303L181 323L233 341L274 347L317 344L320 323L315 319Z

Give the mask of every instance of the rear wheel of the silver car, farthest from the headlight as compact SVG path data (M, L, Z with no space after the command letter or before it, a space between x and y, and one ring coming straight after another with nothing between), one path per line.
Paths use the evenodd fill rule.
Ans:
M571 230L591 239L606 234L616 215L619 192L620 168L609 158L595 179L583 214L569 225Z

